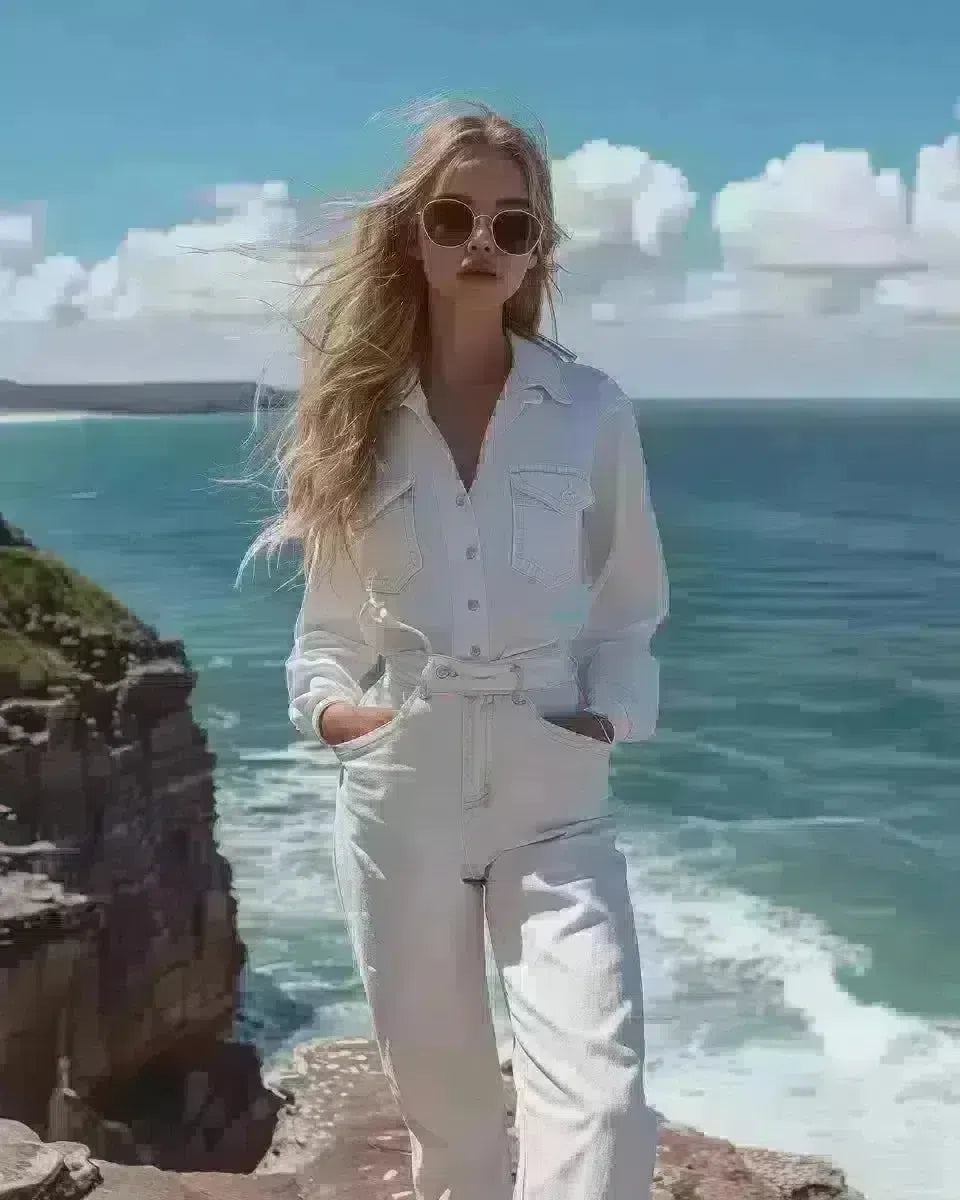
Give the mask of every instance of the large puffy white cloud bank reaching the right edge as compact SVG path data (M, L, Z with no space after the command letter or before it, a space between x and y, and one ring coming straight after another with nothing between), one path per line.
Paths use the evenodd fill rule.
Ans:
M682 316L854 313L950 319L960 307L960 139L924 146L914 186L865 150L796 146L714 197L725 272Z

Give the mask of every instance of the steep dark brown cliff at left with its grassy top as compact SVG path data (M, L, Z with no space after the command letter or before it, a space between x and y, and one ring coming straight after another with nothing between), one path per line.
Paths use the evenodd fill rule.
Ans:
M0 521L0 1115L128 1160L209 1160L259 1082L221 1045L245 952L193 684Z

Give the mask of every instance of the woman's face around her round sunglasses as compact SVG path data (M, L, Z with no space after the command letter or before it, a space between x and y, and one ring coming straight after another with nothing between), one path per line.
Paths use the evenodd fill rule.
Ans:
M468 161L444 172L427 199L451 198L469 205L478 220L461 246L438 246L418 217L415 257L433 293L469 307L503 307L520 288L538 250L505 253L494 241L491 222L505 209L530 208L523 172L496 150L478 149ZM454 235L456 236L456 234ZM503 234L500 240L505 240ZM480 271L487 274L478 274Z

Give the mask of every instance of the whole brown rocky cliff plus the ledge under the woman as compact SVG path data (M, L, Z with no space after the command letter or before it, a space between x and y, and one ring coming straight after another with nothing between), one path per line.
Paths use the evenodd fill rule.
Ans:
M376 1045L268 1086L194 676L0 518L0 1200L412 1200ZM516 1165L516 1097L504 1120ZM862 1200L830 1163L665 1123L653 1200Z

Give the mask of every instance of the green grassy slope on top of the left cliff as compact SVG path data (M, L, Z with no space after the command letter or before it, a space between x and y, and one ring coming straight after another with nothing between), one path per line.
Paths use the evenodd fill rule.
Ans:
M104 655L104 644L125 653L151 634L109 592L53 554L0 546L0 700L46 695L91 667L100 673L97 662L116 658Z

